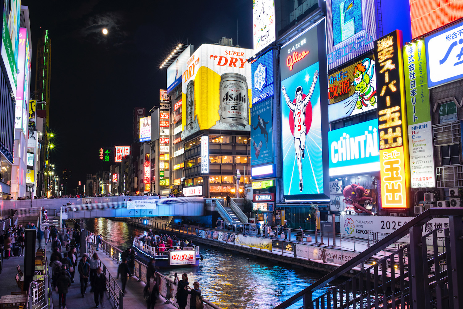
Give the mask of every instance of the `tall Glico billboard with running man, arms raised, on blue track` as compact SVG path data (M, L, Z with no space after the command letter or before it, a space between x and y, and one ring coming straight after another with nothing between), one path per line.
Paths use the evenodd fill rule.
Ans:
M329 195L325 46L323 19L280 51L284 195Z

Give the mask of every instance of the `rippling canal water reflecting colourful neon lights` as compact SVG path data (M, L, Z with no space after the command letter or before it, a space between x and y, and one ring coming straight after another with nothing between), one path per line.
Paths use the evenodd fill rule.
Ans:
M125 222L104 218L84 220L83 227L91 232L102 234L120 249L131 246L131 236L143 230ZM190 286L194 281L200 283L202 295L207 300L223 309L250 308L270 309L282 303L300 290L319 279L322 274L286 264L250 258L240 253L219 250L212 246L200 246L204 258L199 267L161 269L160 272L171 278L176 272L188 274ZM148 259L138 252L138 258L148 263ZM318 290L314 296L325 293ZM300 308L302 301L294 304L293 309Z

